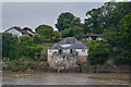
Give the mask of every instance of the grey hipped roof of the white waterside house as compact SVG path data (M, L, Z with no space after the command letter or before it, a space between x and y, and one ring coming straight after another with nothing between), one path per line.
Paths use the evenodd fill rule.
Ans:
M60 46L60 45L67 45L67 44L71 44L71 46L67 48L62 48ZM60 42L55 44L50 49L87 49L87 47L83 42L78 41L74 37L67 37Z

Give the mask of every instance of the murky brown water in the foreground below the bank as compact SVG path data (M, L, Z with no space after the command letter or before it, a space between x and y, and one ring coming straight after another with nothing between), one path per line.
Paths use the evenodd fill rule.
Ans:
M128 74L2 73L3 85L128 85Z

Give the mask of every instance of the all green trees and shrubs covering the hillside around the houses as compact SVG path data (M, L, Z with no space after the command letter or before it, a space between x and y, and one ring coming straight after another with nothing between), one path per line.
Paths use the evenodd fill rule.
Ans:
M90 48L88 63L83 65L110 66L107 63L110 58L114 59L116 65L131 64L130 8L131 2L106 2L100 8L86 12L87 18L84 20L84 23L70 12L61 13L56 24L59 32L53 32L49 25L39 25L35 28L36 34L32 38L26 35L17 38L3 33L3 60L9 60L11 65L13 65L11 62L15 63L12 71L25 70L28 64L39 65L40 61L35 59L37 53L44 52L46 58L46 50L61 38L75 37ZM88 33L99 34L104 39L82 40L83 36ZM21 62L22 65L17 65L16 62ZM45 62L44 65L46 64Z

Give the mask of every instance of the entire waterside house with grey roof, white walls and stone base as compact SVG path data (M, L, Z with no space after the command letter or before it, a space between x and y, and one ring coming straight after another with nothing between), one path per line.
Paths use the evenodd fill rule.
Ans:
M71 63L86 62L88 48L81 41L76 40L74 37L67 37L58 44L55 44L48 49L48 63L51 67L59 63L64 65Z

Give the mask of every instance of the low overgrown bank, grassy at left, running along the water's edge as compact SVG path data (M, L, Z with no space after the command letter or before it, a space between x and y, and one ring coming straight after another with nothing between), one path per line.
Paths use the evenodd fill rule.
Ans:
M86 65L81 64L81 66L74 66L69 69L63 69L58 71L57 69L51 69L48 63L26 63L26 64L9 64L3 65L2 71L12 71L12 72L32 72L32 71L38 71L38 72L53 72L53 73L127 73L130 74L130 67L129 65L121 65L121 66L114 66L114 65Z

